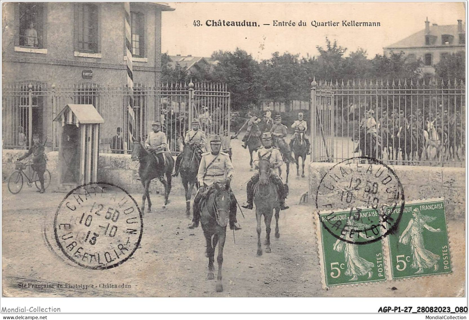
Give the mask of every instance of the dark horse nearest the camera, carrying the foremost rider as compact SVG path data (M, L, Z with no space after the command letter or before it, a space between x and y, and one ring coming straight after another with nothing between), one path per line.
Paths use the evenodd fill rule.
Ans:
M214 183L206 191L206 197L200 202L200 222L207 241L206 256L208 257L207 279L213 280L215 247L218 247L218 276L216 291L223 291L221 282L221 265L223 264L223 247L227 237L227 221L230 208L230 191L227 186Z

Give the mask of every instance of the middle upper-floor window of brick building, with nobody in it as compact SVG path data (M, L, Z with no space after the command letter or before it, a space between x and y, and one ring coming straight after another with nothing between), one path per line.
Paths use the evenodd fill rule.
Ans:
M74 46L76 51L100 51L99 8L90 3L75 3Z

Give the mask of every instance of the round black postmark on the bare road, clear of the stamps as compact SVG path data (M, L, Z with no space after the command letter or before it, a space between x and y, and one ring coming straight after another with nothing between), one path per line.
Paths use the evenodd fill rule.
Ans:
M53 223L62 253L88 269L110 269L127 261L142 239L143 219L127 191L110 183L88 183L68 192Z

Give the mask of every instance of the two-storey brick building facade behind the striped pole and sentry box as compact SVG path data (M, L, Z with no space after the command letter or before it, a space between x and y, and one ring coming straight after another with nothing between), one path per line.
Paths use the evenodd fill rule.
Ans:
M127 85L123 2L15 2L3 4L3 147L23 135L53 137L53 118L67 103L91 103L105 119L102 138L125 126L125 102L108 99L109 88ZM161 87L161 15L173 8L131 2L134 88ZM32 112L29 96L32 90ZM148 127L159 99L134 104L140 130ZM140 109L138 109L140 108ZM125 130L122 128L121 130ZM47 145L52 144L52 139Z

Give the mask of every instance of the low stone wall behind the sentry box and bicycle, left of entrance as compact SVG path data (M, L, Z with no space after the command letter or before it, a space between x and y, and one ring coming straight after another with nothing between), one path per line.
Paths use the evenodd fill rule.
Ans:
M6 181L8 176L15 171L15 160L23 155L25 150L3 150L2 153L2 180ZM57 186L58 179L58 158L57 151L47 153L47 169L51 173L51 190ZM138 162L130 159L130 154L99 154L98 162L98 181L115 184L130 193L141 193L143 186L138 178ZM150 184L150 191L163 191L163 185L154 179ZM173 177L171 195L183 196L184 188L182 187L180 176Z

